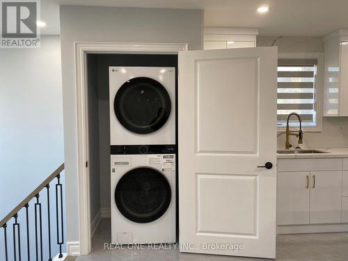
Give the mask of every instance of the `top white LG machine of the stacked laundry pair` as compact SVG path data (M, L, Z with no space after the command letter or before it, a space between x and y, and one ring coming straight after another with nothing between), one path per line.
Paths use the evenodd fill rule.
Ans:
M175 68L109 67L111 145L175 144Z

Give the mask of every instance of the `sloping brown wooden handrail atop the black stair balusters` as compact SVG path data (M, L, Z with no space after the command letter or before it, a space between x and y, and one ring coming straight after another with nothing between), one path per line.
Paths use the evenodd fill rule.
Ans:
M13 216L15 216L15 214L17 214L17 212L19 212L19 210L22 209L22 207L24 207L27 203L29 203L30 200L32 200L40 191L42 191L42 189L44 189L47 186L47 184L49 184L49 182L52 182L52 180L54 180L54 178L58 174L60 174L63 170L64 170L64 164L61 164L61 166L59 166L56 169L56 171L54 171L51 175L49 175L49 177L47 177L47 179L44 180L44 182L42 182L36 189L34 189L34 191L31 192L29 196L24 198L24 200L21 203L19 203L17 207L15 207L7 216L5 216L5 218L3 218L0 221L0 228L2 228L3 225L5 225L10 219L12 219Z

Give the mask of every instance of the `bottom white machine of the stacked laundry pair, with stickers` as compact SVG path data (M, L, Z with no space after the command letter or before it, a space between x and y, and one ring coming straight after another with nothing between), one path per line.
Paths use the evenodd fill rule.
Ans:
M111 155L111 242L175 243L175 224L175 154Z

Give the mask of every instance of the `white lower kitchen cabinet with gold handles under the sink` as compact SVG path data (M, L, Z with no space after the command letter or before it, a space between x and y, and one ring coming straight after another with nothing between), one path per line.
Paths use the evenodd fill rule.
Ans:
M278 159L277 165L278 234L348 231L348 158Z

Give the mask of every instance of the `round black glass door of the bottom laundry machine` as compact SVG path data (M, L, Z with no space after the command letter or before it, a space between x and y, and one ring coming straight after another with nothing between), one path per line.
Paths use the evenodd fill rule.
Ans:
M171 186L154 168L134 168L119 180L115 201L123 216L136 223L159 219L171 203Z

